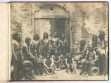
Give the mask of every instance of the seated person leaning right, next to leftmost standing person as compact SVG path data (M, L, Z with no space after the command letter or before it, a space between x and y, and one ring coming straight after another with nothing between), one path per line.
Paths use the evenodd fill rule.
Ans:
M25 43L23 44L23 47L22 47L22 54L23 54L24 61L28 60L32 62L32 64L34 65L33 66L34 74L36 74L37 61L36 61L36 55L34 50L34 43L31 43L31 38L29 37L25 39Z

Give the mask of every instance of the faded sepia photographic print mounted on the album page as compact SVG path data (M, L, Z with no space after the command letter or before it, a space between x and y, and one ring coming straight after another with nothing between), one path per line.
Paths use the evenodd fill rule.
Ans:
M12 2L10 36L10 80L108 80L108 2Z

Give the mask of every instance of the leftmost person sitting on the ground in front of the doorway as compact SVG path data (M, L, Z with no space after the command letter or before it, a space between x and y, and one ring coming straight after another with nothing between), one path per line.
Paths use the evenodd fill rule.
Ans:
M47 75L54 74L54 61L49 54L47 54L47 57L44 59L44 68Z

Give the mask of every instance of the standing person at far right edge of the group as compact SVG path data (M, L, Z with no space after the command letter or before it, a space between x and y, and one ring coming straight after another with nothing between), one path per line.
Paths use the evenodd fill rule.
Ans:
M106 75L108 56L106 56L107 54L106 54L105 32L103 32L103 31L101 31L99 34L98 49L101 53L101 56L99 57L100 75Z

